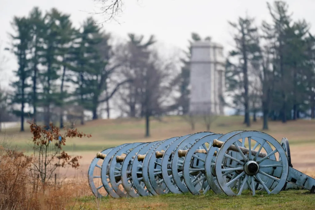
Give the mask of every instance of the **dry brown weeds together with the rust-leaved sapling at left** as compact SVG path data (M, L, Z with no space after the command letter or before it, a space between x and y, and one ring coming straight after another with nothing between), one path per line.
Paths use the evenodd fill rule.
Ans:
M30 122L34 153L9 149L0 143L0 209L65 209L81 190L89 191L86 181L56 183L53 178L60 167L77 169L81 156L71 157L62 150L67 138L91 137L76 128L62 132Z

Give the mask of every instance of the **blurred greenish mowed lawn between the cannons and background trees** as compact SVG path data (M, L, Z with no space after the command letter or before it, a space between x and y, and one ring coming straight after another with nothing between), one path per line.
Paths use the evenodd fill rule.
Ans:
M234 130L260 131L262 128L261 120L252 122L249 128L242 122L242 116L222 116L211 124L210 130L214 133L224 134ZM138 119L95 120L86 122L83 126L77 125L77 128L79 131L92 134L92 138L68 139L65 147L67 151L100 151L123 143L151 142L206 130L202 119L196 124L196 129L192 131L189 123L180 116L163 117L161 121L152 119L150 121L151 137L149 138L144 137L144 120ZM28 124L25 125L25 130L25 132L19 132L18 128L3 130L0 133L0 139L6 138L12 141L14 146L30 152L32 144ZM314 120L289 121L286 124L269 122L269 130L264 132L272 135L278 141L287 137L290 145L315 145Z

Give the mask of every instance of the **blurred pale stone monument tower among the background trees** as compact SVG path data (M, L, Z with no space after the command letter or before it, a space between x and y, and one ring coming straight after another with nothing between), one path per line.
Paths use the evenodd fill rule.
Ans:
M190 106L193 114L223 115L221 96L225 87L223 46L211 41L192 44Z

